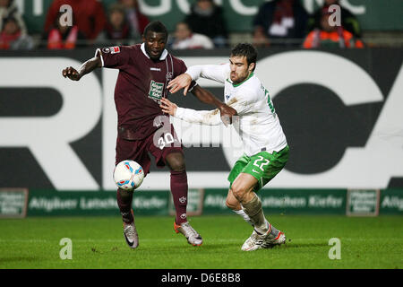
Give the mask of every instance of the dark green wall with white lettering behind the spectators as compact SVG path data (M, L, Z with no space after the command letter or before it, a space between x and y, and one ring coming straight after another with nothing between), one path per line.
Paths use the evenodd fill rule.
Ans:
M21 10L30 35L33 36L38 46L47 7L52 0L15 0L15 2ZM107 10L107 7L116 3L116 0L102 0L101 2ZM141 11L150 20L164 22L169 31L175 30L176 22L184 19L184 12L189 10L192 3L189 1L189 5L185 5L182 2L169 0L159 1L159 4L155 5L154 2L150 4L150 1L147 0L140 1ZM232 6L227 1L223 2L227 28L230 31L227 39L230 46L239 41L252 41L252 19L262 1L254 0L253 4L249 3L251 1L248 2L248 5ZM313 13L322 1L301 0L301 3L308 13ZM239 4L243 5L241 2ZM356 14L362 25L362 39L367 47L403 47L403 20L401 18L403 5L400 0L388 0L387 4L383 0L357 0L354 4L341 1L341 4L345 4L350 11Z

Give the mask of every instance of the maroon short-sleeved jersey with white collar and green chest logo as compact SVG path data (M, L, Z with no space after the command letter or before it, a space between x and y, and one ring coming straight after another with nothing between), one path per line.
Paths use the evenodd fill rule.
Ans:
M103 67L119 69L115 87L118 135L144 139L160 127L154 124L163 115L159 100L167 97L167 83L186 71L184 61L164 50L159 61L153 62L144 44L101 48L96 55L99 51Z

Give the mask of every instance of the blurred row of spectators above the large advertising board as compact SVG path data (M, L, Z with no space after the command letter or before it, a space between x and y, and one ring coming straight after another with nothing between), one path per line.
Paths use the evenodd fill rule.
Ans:
M73 25L60 24L60 6L73 8ZM263 2L253 17L250 39L258 48L364 48L360 23L341 6L341 24L330 25L330 5L324 0L313 14L299 0ZM28 34L14 0L0 0L0 49L73 49L93 46L132 45L141 42L150 19L137 0L116 0L104 7L98 0L54 0L47 10L40 40ZM194 0L191 13L176 19L168 48L228 48L229 33L221 6L212 0Z

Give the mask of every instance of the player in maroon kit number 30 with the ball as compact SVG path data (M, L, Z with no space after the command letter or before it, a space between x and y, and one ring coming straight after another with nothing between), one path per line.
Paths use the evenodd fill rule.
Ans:
M82 64L78 71L70 66L62 74L79 81L84 74L99 67L119 69L115 88L118 115L116 164L129 159L137 161L147 175L150 172L150 152L159 168L167 165L176 208L174 229L176 233L184 234L193 246L200 246L201 236L186 217L188 186L182 145L174 126L167 117L161 117L163 113L159 108L160 99L167 97L169 81L186 71L184 62L167 52L166 43L166 27L161 22L150 22L144 29L141 45L97 49L95 57ZM235 109L227 107L196 83L192 83L190 91L202 102L219 108L224 118L236 114ZM133 218L133 191L118 188L116 198L124 222L124 238L130 248L137 248L139 239Z

